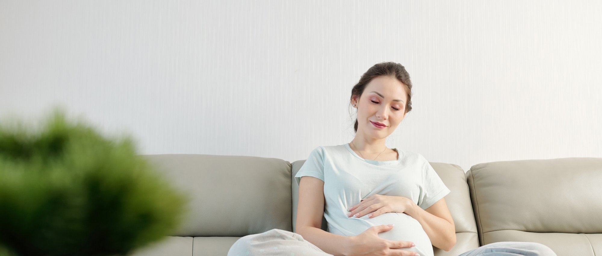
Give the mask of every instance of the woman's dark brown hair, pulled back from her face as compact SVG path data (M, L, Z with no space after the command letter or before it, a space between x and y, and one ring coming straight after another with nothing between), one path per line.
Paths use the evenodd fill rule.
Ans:
M351 89L351 98L349 99L349 104L351 105L351 101L353 96L358 96L358 99L364 93L364 89L367 84L370 83L372 78L375 78L379 75L390 76L391 78L396 78L406 87L406 93L408 95L408 102L406 102L405 112L408 113L412 111L412 81L410 81L410 75L406 68L402 66L402 64L394 63L394 62L381 62L374 64L374 66L370 67L355 86ZM358 132L358 119L355 119L355 125L353 126L353 130Z

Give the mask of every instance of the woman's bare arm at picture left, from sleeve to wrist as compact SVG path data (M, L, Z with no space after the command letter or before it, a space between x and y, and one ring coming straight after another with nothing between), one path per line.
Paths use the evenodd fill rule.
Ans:
M324 181L312 176L302 176L299 183L296 233L327 254L347 255L351 237L322 230L323 217Z

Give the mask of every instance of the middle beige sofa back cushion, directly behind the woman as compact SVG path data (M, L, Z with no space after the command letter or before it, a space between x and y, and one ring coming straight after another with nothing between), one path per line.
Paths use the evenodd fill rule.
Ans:
M299 185L293 180L306 160L298 160L292 163L291 184L293 189L293 232L296 230L297 202L299 202ZM470 203L470 194L466 183L464 170L456 164L430 163L435 172L441 177L448 189L452 190L445 196L447 207L452 213L456 224L456 246L451 251L443 251L433 247L435 256L456 256L463 252L479 247L477 228L474 222L474 214ZM322 217L322 227L327 231L326 218Z

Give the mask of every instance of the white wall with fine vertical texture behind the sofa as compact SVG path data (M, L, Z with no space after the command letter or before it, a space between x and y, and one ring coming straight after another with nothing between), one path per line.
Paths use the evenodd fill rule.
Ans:
M602 157L600 1L0 0L0 114L54 105L140 154L305 159L353 138L375 63L414 83L387 146L464 170ZM353 117L355 118L355 117Z

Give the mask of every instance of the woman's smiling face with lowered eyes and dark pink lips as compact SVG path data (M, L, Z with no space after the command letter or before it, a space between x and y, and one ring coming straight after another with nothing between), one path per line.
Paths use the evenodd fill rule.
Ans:
M399 80L383 75L372 78L361 98L352 101L358 108L358 133L374 139L389 136L406 116L407 100L405 86ZM385 127L379 128L373 122Z

